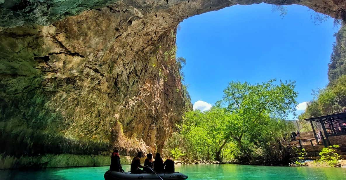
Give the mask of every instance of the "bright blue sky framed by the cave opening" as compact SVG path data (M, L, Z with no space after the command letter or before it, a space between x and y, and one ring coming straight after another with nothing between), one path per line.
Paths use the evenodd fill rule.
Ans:
M307 7L284 7L287 14L280 16L270 4L236 5L180 23L177 56L187 61L183 72L192 103L208 109L233 80L297 81L299 103L312 99L311 90L326 86L339 26L332 18L314 22L311 15L317 13Z

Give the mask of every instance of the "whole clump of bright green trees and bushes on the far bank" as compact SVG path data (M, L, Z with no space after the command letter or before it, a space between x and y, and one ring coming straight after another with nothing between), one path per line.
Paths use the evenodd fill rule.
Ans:
M188 158L222 160L247 156L257 162L281 162L278 143L294 129L280 117L295 110L294 82L230 82L224 98L208 111L185 112L179 134L167 143ZM223 152L223 153L222 153Z

